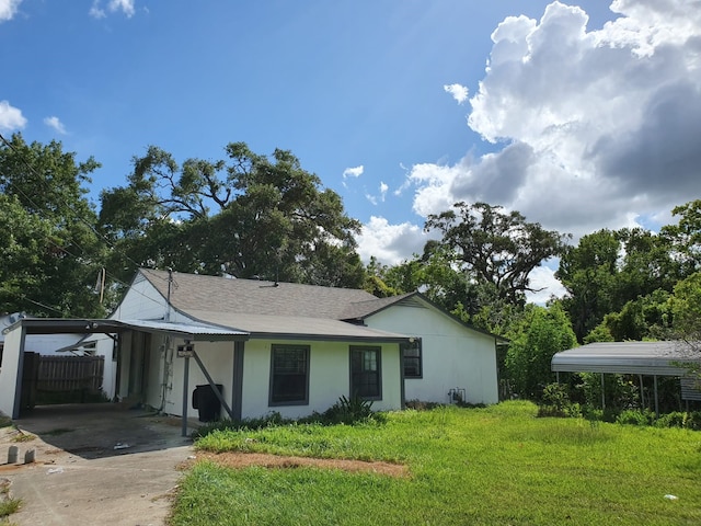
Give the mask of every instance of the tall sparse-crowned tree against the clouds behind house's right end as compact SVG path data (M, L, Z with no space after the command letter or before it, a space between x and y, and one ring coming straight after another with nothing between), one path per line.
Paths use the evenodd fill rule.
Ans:
M425 228L443 233L470 281L493 286L496 297L509 304L522 304L525 294L533 291L530 273L559 255L567 238L486 203L456 203L451 210L430 215Z

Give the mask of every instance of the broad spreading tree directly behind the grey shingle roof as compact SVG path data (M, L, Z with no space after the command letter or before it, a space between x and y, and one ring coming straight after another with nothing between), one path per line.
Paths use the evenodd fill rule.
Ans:
M226 152L226 160L180 165L150 147L134 159L126 187L102 194L101 225L125 248L130 272L136 265L171 266L361 286L354 238L360 225L335 192L322 188L287 150L266 157L232 142ZM150 242L154 231L158 245Z

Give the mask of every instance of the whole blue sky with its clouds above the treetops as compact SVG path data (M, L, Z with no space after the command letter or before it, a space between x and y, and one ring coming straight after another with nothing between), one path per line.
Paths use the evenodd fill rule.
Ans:
M457 201L669 222L701 197L700 42L699 0L0 0L0 133L93 156L95 202L149 145L288 149L397 263Z

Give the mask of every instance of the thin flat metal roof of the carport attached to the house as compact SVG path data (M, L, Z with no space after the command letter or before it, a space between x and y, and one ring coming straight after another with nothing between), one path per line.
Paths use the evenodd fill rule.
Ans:
M223 329L205 324L173 323L162 320L23 318L2 332L7 333L20 324L24 328L26 334L112 334L138 330L146 332L164 332L193 342L243 341L249 339L248 332L235 329Z

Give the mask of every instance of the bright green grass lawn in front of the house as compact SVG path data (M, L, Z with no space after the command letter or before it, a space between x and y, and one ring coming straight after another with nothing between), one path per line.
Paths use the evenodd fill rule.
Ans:
M384 424L215 432L197 447L389 460L411 476L202 462L186 474L171 522L701 524L701 433L536 413L528 402L506 402L389 413Z

